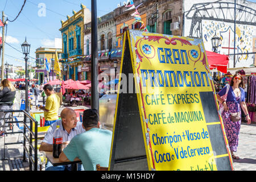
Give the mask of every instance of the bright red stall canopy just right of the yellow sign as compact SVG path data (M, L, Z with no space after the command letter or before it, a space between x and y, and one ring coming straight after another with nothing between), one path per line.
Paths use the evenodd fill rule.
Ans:
M227 73L227 67L229 63L229 57L226 55L221 55L216 52L205 51L207 53L207 59L209 63L209 68L217 68L218 71L222 73Z

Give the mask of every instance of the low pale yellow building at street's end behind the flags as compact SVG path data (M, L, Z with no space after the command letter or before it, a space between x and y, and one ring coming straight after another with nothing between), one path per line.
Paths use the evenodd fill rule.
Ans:
M36 70L35 77L38 79L38 84L48 82L49 80L56 79L56 75L53 73L55 52L58 55L62 53L62 49L51 47L39 47L36 49ZM46 59L50 65L51 72L46 71ZM53 59L53 60L52 60ZM60 63L61 67L61 63Z

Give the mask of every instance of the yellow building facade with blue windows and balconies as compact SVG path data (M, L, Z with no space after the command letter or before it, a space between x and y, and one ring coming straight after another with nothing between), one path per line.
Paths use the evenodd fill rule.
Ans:
M81 10L73 10L73 15L67 15L67 20L61 20L61 36L63 54L64 80L82 80L81 67L84 53L84 24L90 22L90 10L81 4Z

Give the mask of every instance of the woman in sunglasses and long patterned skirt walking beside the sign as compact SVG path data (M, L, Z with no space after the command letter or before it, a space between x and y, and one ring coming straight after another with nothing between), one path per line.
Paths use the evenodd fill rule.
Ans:
M240 159L234 155L238 147L238 135L241 127L241 108L246 115L247 124L251 123L247 107L245 104L244 84L239 73L235 74L230 81L230 85L226 85L217 94L217 100L223 105L224 110L221 112L221 117L224 123L226 137L228 138L229 148L233 159ZM221 97L224 96L224 97ZM238 114L236 121L233 119L233 114Z

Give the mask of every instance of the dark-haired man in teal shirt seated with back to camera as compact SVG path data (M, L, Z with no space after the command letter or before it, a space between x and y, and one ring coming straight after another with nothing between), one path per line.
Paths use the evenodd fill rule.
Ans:
M60 154L61 162L81 160L85 171L96 171L96 164L109 166L112 131L100 129L96 109L86 109L82 117L84 133L72 138Z

